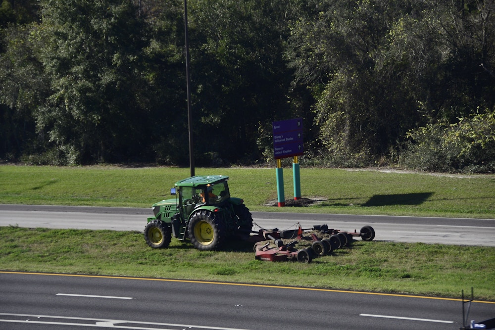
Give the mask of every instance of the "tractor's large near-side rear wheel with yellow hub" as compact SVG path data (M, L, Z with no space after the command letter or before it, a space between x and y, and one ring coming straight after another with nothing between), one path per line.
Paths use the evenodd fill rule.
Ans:
M188 232L194 247L198 250L210 251L222 244L225 226L211 212L200 210L191 217Z

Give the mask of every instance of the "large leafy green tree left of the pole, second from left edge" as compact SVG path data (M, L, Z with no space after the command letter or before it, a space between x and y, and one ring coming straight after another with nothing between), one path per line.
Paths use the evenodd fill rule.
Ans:
M62 163L139 159L148 124L140 99L147 41L137 7L130 0L41 4L41 60L53 94L36 113L39 132Z

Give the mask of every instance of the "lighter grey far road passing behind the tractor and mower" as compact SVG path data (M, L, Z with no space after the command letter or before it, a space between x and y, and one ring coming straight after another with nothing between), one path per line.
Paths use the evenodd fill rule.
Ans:
M0 204L0 226L142 231L149 208ZM371 225L375 240L495 246L494 219L427 218L287 212L252 212L259 228L285 230L328 224L344 231Z

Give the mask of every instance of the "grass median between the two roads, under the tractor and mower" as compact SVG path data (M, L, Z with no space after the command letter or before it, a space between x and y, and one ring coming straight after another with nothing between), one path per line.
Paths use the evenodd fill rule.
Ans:
M198 251L175 238L152 249L139 232L0 227L0 269L294 285L495 300L495 248L355 240L310 264L254 259L252 244Z

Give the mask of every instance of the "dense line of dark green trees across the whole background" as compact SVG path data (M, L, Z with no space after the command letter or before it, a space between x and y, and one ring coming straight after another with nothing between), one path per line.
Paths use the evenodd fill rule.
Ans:
M494 0L189 0L196 165L495 171ZM2 0L0 157L189 164L183 0Z

